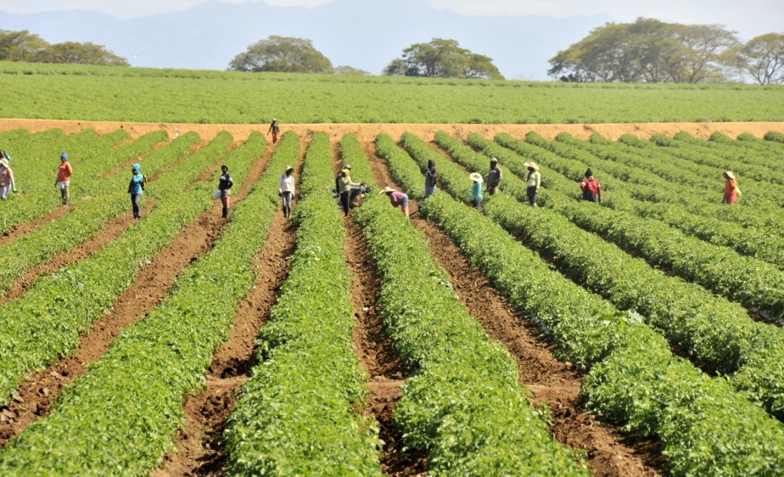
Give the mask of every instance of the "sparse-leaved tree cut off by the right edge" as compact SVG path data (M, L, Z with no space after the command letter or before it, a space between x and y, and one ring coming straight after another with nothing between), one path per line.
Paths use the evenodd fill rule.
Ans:
M740 69L760 85L784 83L784 33L762 34L731 54Z

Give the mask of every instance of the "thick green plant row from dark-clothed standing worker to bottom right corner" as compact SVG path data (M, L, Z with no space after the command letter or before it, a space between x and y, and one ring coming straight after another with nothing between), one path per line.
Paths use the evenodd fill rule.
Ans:
M384 157L408 161L410 166L396 169L411 169L409 177L419 171L405 151ZM416 182L402 183L414 198L422 197ZM672 475L772 475L784 470L779 421L726 381L709 378L673 356L669 343L635 313L619 312L575 285L497 223L447 193L435 193L420 210L516 309L554 339L562 357L590 369L581 387L588 409L661 440Z

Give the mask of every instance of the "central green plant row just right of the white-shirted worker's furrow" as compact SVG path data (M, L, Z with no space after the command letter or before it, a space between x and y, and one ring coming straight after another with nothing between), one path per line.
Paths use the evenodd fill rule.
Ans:
M333 178L332 147L321 132L303 166L292 268L261 329L259 364L229 418L232 475L382 475L378 427L363 412L367 375L351 335L346 229L325 188Z

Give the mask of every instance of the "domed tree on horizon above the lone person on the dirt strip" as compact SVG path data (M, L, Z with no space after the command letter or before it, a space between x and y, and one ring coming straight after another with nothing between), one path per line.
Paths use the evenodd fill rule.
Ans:
M310 40L272 35L234 56L229 70L332 73L332 62Z

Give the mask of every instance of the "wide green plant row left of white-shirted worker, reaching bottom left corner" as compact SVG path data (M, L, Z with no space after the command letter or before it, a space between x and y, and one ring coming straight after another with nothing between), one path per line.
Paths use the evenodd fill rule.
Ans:
M245 176L259 153L244 146L234 150L235 168L242 169L235 179ZM234 207L214 248L177 278L157 308L122 331L101 359L64 389L52 414L0 451L3 475L149 475L173 450L185 396L204 382L214 352L228 338L239 300L252 287L252 261L277 211L277 173L298 154L299 138L287 133L263 178ZM172 216L151 212L133 229L146 225L153 237L138 238L164 234L167 223L180 217L194 219L212 204L206 194L211 188L200 182L158 203L160 209L164 202L172 204ZM133 252L126 248L123 254Z

